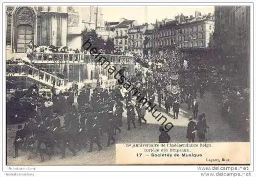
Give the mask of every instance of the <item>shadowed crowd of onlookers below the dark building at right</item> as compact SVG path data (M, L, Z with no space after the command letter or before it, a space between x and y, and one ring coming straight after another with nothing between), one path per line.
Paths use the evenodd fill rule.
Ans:
M211 88L222 104L222 116L233 123L246 123L250 115L250 93L240 85L237 78L227 78L223 72L210 68ZM242 121L242 122L241 122Z

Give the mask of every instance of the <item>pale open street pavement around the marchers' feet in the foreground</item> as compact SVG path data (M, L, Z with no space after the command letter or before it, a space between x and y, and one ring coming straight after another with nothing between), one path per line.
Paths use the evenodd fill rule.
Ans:
M209 126L209 131L206 134L206 142L241 142L244 141L241 135L234 130L227 121L223 120L220 116L220 105L217 104L214 96L206 92L204 99L197 98L199 102L199 113L206 114L207 125ZM134 100L133 100L134 103ZM76 103L77 104L77 103ZM157 102L155 101L155 104ZM174 124L173 129L171 129L168 134L170 136L170 142L187 142L186 131L188 117L193 116L190 109L188 111L187 105L185 103L180 104L180 113L178 119L173 119L172 109L170 113L166 114L165 109L159 109L158 104L155 109L158 109L163 116L167 117L167 122L172 122ZM114 136L116 143L157 143L159 142L159 126L161 121L157 121L152 113L146 111L147 124L142 124L141 127L138 126L138 121L136 121L136 129L131 125L131 130L127 131L126 125L126 110L123 113L123 127L121 127L122 132ZM61 117L63 123L63 117ZM88 147L77 153L75 157L67 149L67 154L65 159L60 159L60 155L52 157L48 160L46 157L46 162L39 163L39 155L33 159L27 160L28 155L22 151L19 153L18 158L12 158L14 156L13 139L15 136L15 131L17 125L12 125L7 127L7 164L8 165L108 165L115 164L115 145L112 144L110 147L106 146L106 135L101 137L101 143L103 148L98 151L97 145L94 145L92 153L87 153ZM196 142L198 139L195 140Z

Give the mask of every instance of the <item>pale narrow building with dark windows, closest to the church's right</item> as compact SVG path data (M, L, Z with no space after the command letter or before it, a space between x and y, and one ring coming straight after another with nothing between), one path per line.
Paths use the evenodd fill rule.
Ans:
M114 44L116 49L122 49L123 51L128 49L128 30L131 27L137 26L136 20L123 19L116 27L114 31Z

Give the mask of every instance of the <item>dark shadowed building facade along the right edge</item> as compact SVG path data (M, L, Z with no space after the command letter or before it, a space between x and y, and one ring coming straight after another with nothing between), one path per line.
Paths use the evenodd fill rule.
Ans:
M238 70L249 81L250 7L215 7L215 48L225 70Z

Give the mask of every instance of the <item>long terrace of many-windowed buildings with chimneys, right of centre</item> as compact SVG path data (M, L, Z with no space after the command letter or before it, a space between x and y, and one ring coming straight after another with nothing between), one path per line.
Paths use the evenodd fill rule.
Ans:
M164 54L166 50L176 48L190 53L206 49L214 32L214 15L175 16L175 19L156 21L153 33L153 54Z

